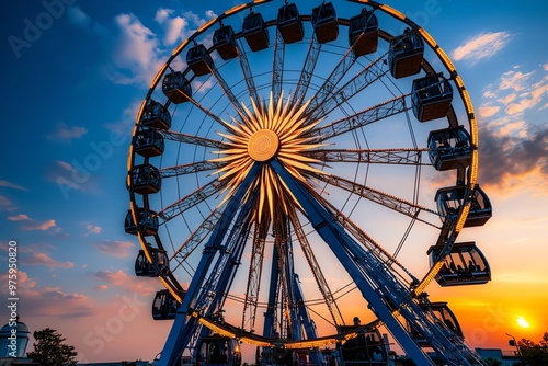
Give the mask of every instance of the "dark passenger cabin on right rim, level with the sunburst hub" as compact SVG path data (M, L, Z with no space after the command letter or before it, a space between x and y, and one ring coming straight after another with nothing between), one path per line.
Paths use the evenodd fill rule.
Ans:
M463 126L433 130L429 134L429 157L436 170L470 165L470 135Z

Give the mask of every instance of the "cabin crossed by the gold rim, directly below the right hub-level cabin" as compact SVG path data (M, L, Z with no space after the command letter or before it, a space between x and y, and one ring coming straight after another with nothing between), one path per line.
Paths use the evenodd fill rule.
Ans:
M455 221L465 201L466 186L456 185L439 188L436 192L435 201L442 221ZM471 204L465 227L475 227L484 225L492 216L491 202L487 194L476 184L471 192Z

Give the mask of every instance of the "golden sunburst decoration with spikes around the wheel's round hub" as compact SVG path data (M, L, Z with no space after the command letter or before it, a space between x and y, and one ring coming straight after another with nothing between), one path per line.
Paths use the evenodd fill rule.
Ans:
M283 92L277 102L272 93L267 103L251 99L252 111L242 103L241 112L238 110L239 118L231 117L231 124L222 121L228 133L218 134L228 140L225 142L227 148L214 151L220 157L212 160L222 163L222 168L215 173L220 174L219 180L227 182L225 190L230 188L221 204L232 196L255 163L261 164L261 172L250 190L260 190L256 210L259 220L264 215L274 217L277 208L287 211L290 205L299 206L292 192L271 168L269 162L272 159L278 159L289 173L302 183L307 183L305 172L322 173L312 167L319 160L304 155L322 146L309 144L312 137L305 136L320 121L307 121L305 111L309 101L297 108L296 104L292 105L290 100L288 98L284 103Z

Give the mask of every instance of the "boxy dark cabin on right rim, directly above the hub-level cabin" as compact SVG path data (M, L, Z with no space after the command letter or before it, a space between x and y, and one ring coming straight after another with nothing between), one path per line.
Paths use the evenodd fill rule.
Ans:
M453 101L453 88L442 73L413 80L411 101L413 113L420 122L443 118Z

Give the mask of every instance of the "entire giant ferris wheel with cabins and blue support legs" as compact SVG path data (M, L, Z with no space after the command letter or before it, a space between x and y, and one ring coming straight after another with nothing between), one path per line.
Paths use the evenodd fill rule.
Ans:
M239 364L246 343L264 365L387 365L380 330L418 365L482 364L425 293L491 278L457 241L491 217L473 108L398 10L254 1L212 19L152 80L127 168L136 275L174 319L159 364Z

